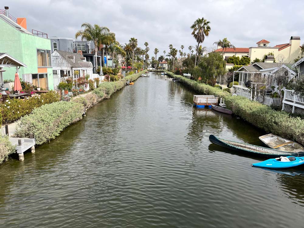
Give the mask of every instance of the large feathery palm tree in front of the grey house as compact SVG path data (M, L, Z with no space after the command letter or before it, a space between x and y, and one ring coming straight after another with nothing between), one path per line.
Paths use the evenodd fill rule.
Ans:
M102 38L104 38L105 33L109 33L110 29L107 27L101 27L99 25L92 26L89 23L83 23L81 28L76 32L75 39L81 37L81 40L93 41L94 43L94 52L95 52L95 70L97 69L97 51L100 44L102 44ZM102 73L102 67L100 67L100 74Z

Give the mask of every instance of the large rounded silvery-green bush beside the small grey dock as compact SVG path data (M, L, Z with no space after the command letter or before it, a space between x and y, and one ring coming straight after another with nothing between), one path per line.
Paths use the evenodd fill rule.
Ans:
M17 137L27 138L33 133L36 144L54 139L71 123L82 118L84 106L76 102L55 102L34 109L16 125Z

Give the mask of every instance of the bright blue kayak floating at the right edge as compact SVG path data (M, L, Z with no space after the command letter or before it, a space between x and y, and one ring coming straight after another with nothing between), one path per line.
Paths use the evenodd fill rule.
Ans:
M302 164L304 164L304 157L287 156L268 159L266 161L254 163L252 166L270 169L283 169L295 167Z

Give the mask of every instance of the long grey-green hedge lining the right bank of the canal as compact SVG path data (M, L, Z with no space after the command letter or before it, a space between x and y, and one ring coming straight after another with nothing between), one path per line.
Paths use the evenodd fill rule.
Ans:
M304 145L304 120L299 117L291 117L284 111L275 111L267 105L259 102L250 101L242 96L232 96L230 93L219 88L212 87L185 78L181 75L168 72L172 78L188 85L190 88L200 94L215 95L225 99L226 107L234 114L242 117L254 126L257 126L268 133L295 140Z

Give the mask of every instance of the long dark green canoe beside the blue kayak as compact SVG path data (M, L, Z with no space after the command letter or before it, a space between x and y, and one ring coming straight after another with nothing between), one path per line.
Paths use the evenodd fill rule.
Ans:
M260 157L276 158L276 157L287 157L287 156L294 156L294 157L304 156L304 152L292 153L292 152L275 150L266 147L259 147L247 143L239 143L230 140L219 139L214 135L210 135L209 140L210 142L215 143L217 145L227 147L229 149L236 150L241 153L256 155Z

